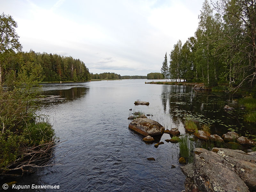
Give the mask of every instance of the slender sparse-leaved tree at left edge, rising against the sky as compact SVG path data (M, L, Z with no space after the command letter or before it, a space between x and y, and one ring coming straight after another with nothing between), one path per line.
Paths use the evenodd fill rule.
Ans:
M3 69L5 67L6 55L14 53L13 51L20 51L21 44L19 36L15 32L17 23L12 19L12 16L0 15L0 86L3 84Z

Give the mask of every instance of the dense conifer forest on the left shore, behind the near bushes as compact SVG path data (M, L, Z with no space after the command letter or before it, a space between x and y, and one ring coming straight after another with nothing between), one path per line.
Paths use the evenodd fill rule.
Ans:
M90 80L89 69L84 62L73 57L64 57L57 54L18 52L12 53L6 62L5 73L19 71L24 66L28 73L33 68L42 75L42 81L88 81Z

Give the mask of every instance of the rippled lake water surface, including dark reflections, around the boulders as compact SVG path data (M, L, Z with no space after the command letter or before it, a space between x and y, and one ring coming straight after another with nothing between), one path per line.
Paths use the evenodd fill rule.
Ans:
M187 116L211 123L212 134L221 136L229 130L255 134L252 125L243 122L243 110L223 110L235 96L145 81L152 80L43 84L42 94L51 97L40 102L40 113L48 116L60 138L55 148L56 165L24 176L17 184L60 185L56 191L183 190L179 145L164 141L170 139L169 134L156 138L156 142L164 141L158 148L144 143L143 136L128 129L131 121L127 118L135 111L153 115L148 118L165 129L178 127L181 134L186 134ZM135 106L135 100L149 101L150 105ZM148 157L156 161L148 161Z

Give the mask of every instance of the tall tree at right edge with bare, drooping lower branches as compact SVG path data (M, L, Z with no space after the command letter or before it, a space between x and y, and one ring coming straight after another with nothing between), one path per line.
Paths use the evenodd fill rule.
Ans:
M223 38L219 46L226 47L229 81L236 79L236 88L241 87L244 82L255 84L256 1L220 0L213 6L223 17Z

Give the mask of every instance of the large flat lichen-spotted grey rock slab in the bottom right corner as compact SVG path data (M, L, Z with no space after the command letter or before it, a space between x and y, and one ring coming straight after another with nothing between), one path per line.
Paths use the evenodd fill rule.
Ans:
M256 153L213 148L194 149L194 163L181 167L187 176L186 192L242 192L256 190Z

